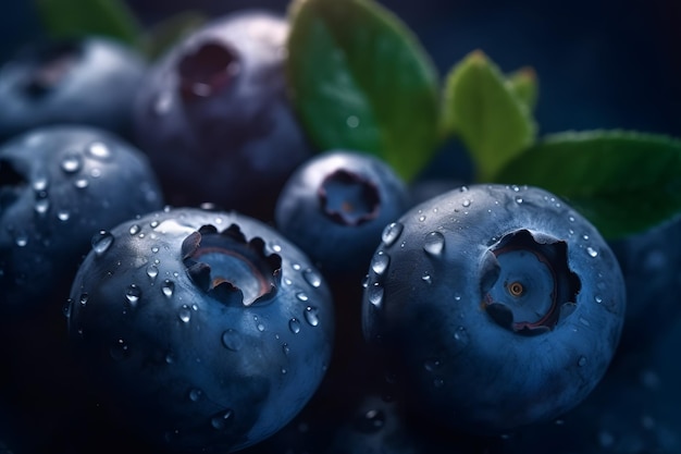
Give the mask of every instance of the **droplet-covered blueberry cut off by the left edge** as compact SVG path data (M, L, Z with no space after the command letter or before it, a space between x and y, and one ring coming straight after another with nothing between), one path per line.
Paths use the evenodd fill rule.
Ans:
M3 318L54 303L61 311L69 295L64 281L73 279L92 235L162 206L146 156L104 130L44 126L4 143L0 147Z

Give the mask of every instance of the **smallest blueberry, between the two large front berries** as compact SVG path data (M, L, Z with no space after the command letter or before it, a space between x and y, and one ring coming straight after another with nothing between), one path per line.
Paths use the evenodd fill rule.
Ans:
M405 184L385 162L331 150L296 170L280 194L274 220L322 271L361 278L384 226L408 203Z

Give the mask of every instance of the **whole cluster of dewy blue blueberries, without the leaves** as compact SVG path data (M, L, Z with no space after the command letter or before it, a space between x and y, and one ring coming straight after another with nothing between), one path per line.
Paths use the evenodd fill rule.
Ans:
M598 426L680 310L679 223L607 242L537 187L315 150L287 32L245 11L152 63L91 37L4 64L5 451L679 449Z

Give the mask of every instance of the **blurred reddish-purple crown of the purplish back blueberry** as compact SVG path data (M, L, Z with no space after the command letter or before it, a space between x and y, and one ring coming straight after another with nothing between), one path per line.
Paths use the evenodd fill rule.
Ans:
M186 102L208 98L228 86L238 72L235 50L222 42L203 42L179 60L179 95Z

